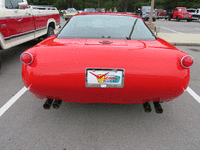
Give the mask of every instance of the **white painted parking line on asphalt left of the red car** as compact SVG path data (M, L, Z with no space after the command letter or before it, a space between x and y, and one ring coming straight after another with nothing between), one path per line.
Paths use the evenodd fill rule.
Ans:
M28 89L24 86L17 94L15 94L6 104L0 108L0 117L14 104Z

